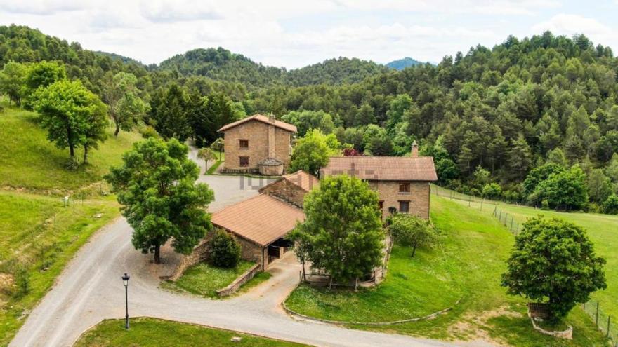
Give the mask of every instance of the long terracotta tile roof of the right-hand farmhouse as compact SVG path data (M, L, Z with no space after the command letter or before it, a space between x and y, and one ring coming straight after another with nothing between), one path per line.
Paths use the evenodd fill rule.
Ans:
M436 181L430 156L337 156L331 157L320 176L352 175L379 181Z

